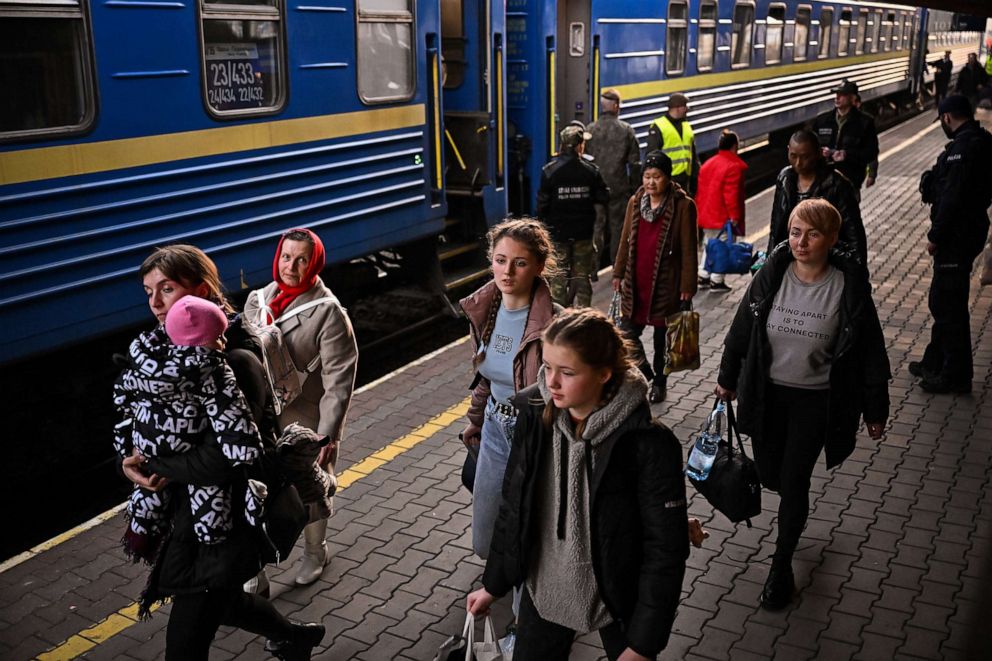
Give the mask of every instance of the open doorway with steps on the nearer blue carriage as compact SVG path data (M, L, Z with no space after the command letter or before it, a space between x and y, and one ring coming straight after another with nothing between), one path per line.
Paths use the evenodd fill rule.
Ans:
M478 275L481 237L506 215L503 25L499 0L441 0L441 139L446 230L438 255L451 290Z

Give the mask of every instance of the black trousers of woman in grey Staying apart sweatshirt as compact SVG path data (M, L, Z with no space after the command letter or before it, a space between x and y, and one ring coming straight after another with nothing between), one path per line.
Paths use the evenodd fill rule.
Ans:
M780 497L775 555L791 559L809 518L809 485L826 440L829 390L769 384L763 438L754 443L761 484Z

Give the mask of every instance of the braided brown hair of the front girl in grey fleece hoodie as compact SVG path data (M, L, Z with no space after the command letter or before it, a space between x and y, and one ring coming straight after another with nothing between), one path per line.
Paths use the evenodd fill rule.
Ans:
M541 339L546 345L555 344L574 351L579 360L594 370L608 368L613 371L610 380L603 386L601 406L613 399L627 370L634 367L630 341L624 338L616 324L594 308L565 310L551 320ZM544 407L544 426L547 430L551 430L557 414L554 402ZM576 426L576 438L582 435L584 423L583 420Z

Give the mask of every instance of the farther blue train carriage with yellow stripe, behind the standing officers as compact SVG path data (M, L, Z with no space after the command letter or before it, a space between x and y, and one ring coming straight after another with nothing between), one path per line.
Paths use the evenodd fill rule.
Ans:
M828 110L843 78L866 101L911 91L925 16L847 0L508 0L510 133L532 147L511 204L533 204L558 130L594 121L599 91L619 89L642 148L669 95L688 94L708 151L725 127L752 138Z

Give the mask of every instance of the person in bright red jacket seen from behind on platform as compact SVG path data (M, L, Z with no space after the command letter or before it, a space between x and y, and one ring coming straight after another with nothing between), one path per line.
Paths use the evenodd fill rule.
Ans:
M747 164L737 155L739 145L737 134L724 129L720 136L720 151L699 170L696 208L703 243L699 286L709 287L710 291L728 292L730 287L723 281L722 273L706 270L706 242L715 238L728 220L734 223L734 235L744 236L744 171Z

